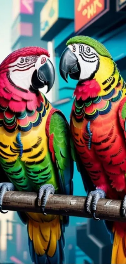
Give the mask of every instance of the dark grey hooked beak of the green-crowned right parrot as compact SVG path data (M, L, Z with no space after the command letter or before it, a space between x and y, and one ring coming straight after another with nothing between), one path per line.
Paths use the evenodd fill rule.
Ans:
M61 55L59 71L66 82L68 82L68 74L71 79L79 80L80 65L76 55L69 48L66 48Z

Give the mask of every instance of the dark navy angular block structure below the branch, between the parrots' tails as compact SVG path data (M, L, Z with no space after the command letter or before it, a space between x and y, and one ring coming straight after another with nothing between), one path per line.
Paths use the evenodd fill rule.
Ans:
M90 257L84 263L111 263L112 244L103 221L99 224L88 219L87 223L77 227L77 245Z

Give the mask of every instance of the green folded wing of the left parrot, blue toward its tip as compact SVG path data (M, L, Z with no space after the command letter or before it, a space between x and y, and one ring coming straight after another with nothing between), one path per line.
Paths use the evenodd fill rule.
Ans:
M70 131L61 112L55 112L50 120L49 149L58 170L61 193L73 194L73 156Z

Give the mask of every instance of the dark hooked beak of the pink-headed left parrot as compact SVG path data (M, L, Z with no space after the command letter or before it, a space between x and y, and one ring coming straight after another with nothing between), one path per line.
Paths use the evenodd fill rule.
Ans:
M38 79L43 82L44 85L47 85L48 90L46 93L48 93L53 87L53 83L55 81L55 70L49 59L47 59L46 63L38 69L37 75Z

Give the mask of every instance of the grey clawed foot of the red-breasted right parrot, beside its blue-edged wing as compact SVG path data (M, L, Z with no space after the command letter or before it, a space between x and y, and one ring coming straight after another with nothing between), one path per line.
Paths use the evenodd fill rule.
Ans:
M91 191L88 194L86 201L87 212L92 214L93 219L97 221L99 221L100 219L95 216L95 211L98 200L101 198L105 198L105 192L102 189L96 189L95 191Z

